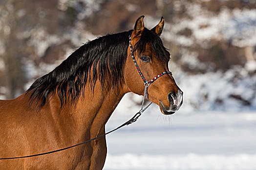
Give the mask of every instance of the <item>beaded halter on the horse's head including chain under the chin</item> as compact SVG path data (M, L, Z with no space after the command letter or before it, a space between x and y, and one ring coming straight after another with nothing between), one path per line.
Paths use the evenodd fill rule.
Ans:
M134 65L135 65L135 67L137 68L138 73L140 74L140 76L141 76L141 78L142 78L142 80L143 80L143 82L144 82L144 85L145 85L145 90L144 90L144 96L143 96L143 101L142 101L141 109L140 109L140 111L138 112L138 114L139 114L139 116L140 116L141 113L144 112L144 111L149 107L149 105L152 104L152 102L150 102L149 105L143 109L144 102L145 102L145 98L148 99L148 87L149 87L149 85L151 85L151 83L153 83L153 82L154 82L156 79L158 79L159 77L161 77L161 76L163 76L163 75L165 75L165 74L171 74L171 75L172 75L172 73L171 73L171 71L164 71L164 72L158 74L157 76L155 76L154 78L152 78L151 80L147 81L147 80L145 79L145 77L143 76L143 74L142 74L142 72L141 72L141 70L140 70L140 68L139 68L139 66L138 66L138 64L137 64L137 62L136 62L136 60L135 60L135 57L134 57L133 52L132 52L132 46L131 46L130 42L131 42L131 35L129 35L129 46L130 46L131 58L132 58L132 60L133 60L133 62L134 62ZM138 116L138 117L139 117L139 116ZM137 119L138 119L138 117L137 117ZM136 120L135 120L135 121L136 121Z

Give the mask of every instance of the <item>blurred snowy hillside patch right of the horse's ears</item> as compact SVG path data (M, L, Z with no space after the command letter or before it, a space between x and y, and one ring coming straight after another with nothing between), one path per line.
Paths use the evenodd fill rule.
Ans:
M256 45L256 9L222 8L215 14L200 4L187 3L185 6L190 18L175 18L175 24L163 31L163 39L182 47L194 43L204 47L213 40L231 41L233 46L240 48ZM192 35L177 34L184 29L190 29Z

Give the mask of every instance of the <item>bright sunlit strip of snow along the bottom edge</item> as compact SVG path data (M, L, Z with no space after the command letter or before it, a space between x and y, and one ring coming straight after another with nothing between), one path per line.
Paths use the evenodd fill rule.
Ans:
M256 154L109 155L105 170L255 170ZM124 161L126 160L126 161ZM113 166L111 166L113 165Z

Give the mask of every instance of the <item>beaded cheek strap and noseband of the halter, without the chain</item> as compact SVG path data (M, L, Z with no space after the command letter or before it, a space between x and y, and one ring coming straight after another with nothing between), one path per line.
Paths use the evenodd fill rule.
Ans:
M138 70L138 72L139 72L139 74L140 74L140 76L141 76L141 78L142 78L142 80L143 80L145 86L148 87L148 86L149 86L151 83L153 83L156 79L158 79L159 77L161 77L161 76L163 76L163 75L165 75L165 74L171 74L171 75L172 75L171 71L164 71L164 72L162 72L161 74L158 74L157 76L155 76L154 78L152 78L151 80L147 81L147 80L145 79L145 77L143 76L142 72L140 71L139 66L137 65L137 62L136 62L136 60L135 60L135 57L134 57L134 55L133 55L133 53L132 53L132 46L131 46L130 42L131 42L131 35L129 35L129 46L130 46L131 57L132 57L132 59L133 59L134 65L135 65L135 67L137 68L137 70Z

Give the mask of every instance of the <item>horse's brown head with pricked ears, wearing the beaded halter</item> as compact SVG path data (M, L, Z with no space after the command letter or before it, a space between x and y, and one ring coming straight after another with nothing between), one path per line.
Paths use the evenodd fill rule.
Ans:
M169 71L170 53L160 39L164 18L151 30L144 27L143 18L136 20L130 35L124 68L125 84L129 91L139 95L143 95L145 85L150 84L148 99L158 104L163 114L171 115L180 108L183 92Z

